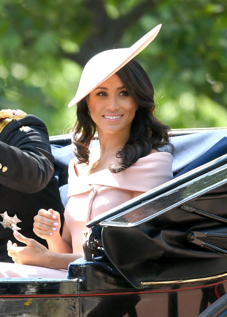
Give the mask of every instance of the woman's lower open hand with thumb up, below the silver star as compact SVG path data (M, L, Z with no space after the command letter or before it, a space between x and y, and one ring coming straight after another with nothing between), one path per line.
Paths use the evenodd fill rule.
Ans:
M16 243L8 241L8 256L19 264L36 265L45 267L48 265L49 250L34 239L22 236L18 231L14 231L14 237L26 244L24 247L18 247Z

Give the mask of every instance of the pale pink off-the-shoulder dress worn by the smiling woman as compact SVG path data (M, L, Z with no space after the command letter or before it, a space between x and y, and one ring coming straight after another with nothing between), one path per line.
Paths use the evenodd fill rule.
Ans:
M76 173L76 160L73 159L68 168L69 200L64 214L72 236L73 249L78 219L88 222L95 216L132 199L134 191L146 192L169 181L173 176L172 160L172 155L168 152L154 152L138 159L120 173L115 174L105 169L84 177ZM63 278L66 272L16 263L1 263L0 277L16 276Z

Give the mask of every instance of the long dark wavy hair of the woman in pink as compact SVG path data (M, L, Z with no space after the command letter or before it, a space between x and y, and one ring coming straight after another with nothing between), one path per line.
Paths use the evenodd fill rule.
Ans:
M154 114L154 89L150 78L142 66L131 60L116 74L120 77L128 94L136 101L139 108L132 122L130 136L125 146L116 153L119 165L109 166L109 170L118 173L130 167L139 158L147 156L152 149L167 146L173 151L169 141L169 126L162 124ZM96 132L86 98L77 103L77 120L73 127L72 142L78 163L89 164L89 145Z

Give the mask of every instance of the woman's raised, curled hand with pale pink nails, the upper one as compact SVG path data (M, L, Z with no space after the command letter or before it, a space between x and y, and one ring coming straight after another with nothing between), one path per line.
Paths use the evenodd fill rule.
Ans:
M40 209L34 217L33 231L42 239L48 240L53 235L60 235L60 228L60 214L53 209Z

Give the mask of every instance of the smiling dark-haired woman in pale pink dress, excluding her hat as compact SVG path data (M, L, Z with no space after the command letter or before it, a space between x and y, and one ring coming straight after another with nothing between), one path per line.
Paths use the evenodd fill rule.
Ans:
M8 254L16 263L67 270L83 256L86 222L172 178L172 155L159 151L162 146L172 150L169 128L154 116L152 83L137 61L126 60L83 94L70 103L77 103L72 138L76 159L69 164L70 198L62 236L58 212L39 210L34 232L47 240L49 249L15 231L16 239L27 245L8 242ZM96 131L99 146L90 148Z

